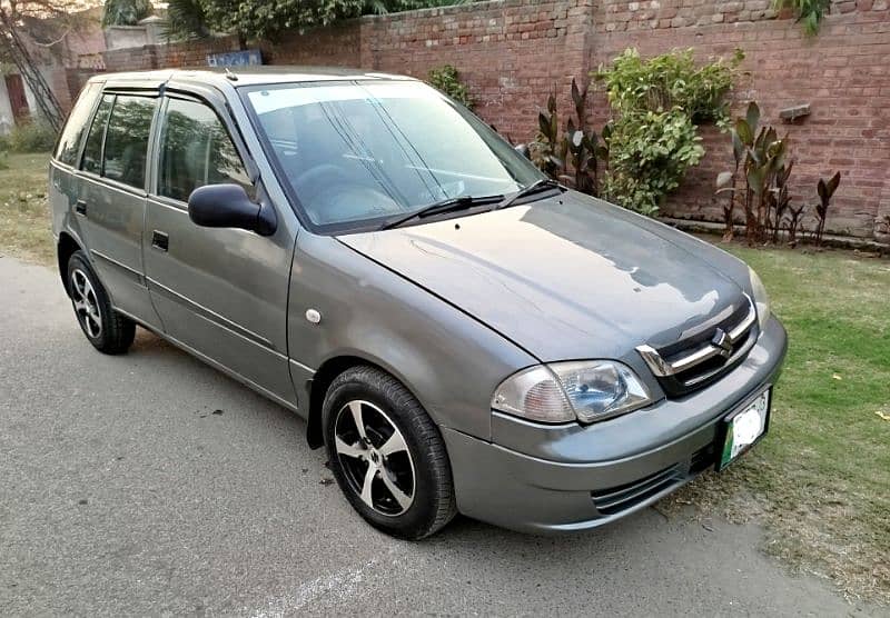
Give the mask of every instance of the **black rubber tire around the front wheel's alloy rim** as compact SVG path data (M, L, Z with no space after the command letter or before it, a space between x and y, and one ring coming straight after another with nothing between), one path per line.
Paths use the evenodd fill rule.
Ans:
M405 451L408 453L414 479L411 506L405 507L399 504L404 512L385 514L368 506L362 498L356 477L362 477L363 461L370 465L370 456L367 459L352 459L352 456L342 456L335 446L335 431L342 430L343 423L347 423L347 426L349 422L354 423L352 415L342 420L339 426L337 425L338 418L343 413L349 413L348 405L357 401L367 405L363 412L370 419L367 421L366 428L367 440L369 440L369 446L366 448L374 451L374 455L377 455L377 451L373 448L372 442L386 441L385 436L380 436L385 428L378 432L374 431L374 419L377 419L378 422L383 422L383 419L389 421L389 425L395 426L404 438L404 445L407 447ZM457 507L445 442L438 428L419 401L398 380L374 367L348 369L332 382L322 413L330 470L349 504L368 524L394 537L418 540L438 531L454 518ZM357 427L357 425L354 423L352 427ZM390 433L389 437L392 436ZM360 445L360 439L355 440L355 443ZM380 445L377 443L376 447L380 447ZM379 452L383 453L383 448ZM387 492L392 497L395 496L388 489L392 485L387 485L385 480L390 484L393 480L398 480L396 474L389 470L395 470L396 464L399 461L404 468L405 457L402 452L389 455L388 458L380 456L382 464L372 484L377 488L377 494L382 495L382 501L387 501ZM392 468L385 468L390 465ZM356 474L356 468L359 474ZM380 475L389 475L389 477L384 479ZM364 477L362 478L364 479ZM372 499L373 502L374 499ZM390 506L396 506L394 500L389 500L389 502ZM394 509L394 511L396 510L399 509Z

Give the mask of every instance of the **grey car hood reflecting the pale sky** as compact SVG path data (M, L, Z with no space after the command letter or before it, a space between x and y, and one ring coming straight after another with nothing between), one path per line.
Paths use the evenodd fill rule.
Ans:
M744 302L703 243L575 192L339 240L542 361L625 358Z

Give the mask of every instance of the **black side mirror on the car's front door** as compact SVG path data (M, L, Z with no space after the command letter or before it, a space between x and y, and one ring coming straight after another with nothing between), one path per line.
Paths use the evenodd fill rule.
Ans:
M188 217L205 228L238 228L260 236L275 233L275 210L250 201L240 185L205 185L188 197Z

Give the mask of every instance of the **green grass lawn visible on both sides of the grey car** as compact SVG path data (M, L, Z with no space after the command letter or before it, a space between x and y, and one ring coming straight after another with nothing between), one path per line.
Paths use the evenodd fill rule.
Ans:
M8 162L0 250L51 265L47 156ZM756 518L769 552L850 595L890 601L890 261L729 249L761 275L789 331L770 435L659 508Z

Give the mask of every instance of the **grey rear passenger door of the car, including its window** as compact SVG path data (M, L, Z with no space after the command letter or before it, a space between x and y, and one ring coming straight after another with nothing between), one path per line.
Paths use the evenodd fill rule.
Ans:
M106 88L80 160L76 217L116 309L157 325L142 265L142 225L157 91Z

